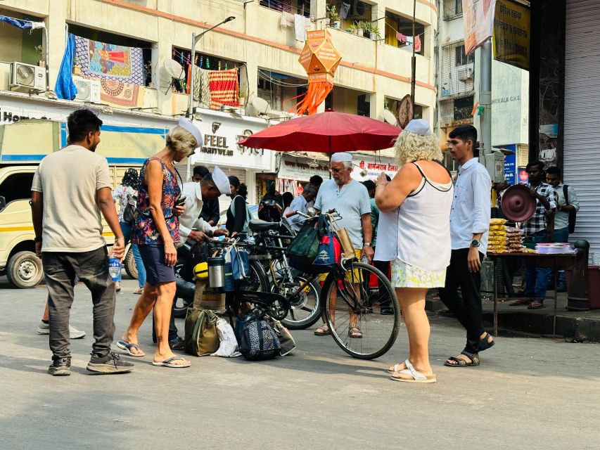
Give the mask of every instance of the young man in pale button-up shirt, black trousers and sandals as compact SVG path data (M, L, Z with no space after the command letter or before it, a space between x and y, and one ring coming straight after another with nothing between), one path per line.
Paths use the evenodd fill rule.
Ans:
M494 345L492 336L482 326L480 294L481 261L487 250L490 226L492 180L473 153L477 141L475 127L463 125L448 136L448 150L460 167L450 212L452 256L440 299L466 329L466 345L461 354L451 356L444 364L478 366L478 353Z

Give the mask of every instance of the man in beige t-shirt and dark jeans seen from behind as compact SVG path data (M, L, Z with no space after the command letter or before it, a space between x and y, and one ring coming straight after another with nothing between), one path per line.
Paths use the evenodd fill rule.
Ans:
M70 375L69 313L75 278L91 292L94 344L87 370L125 373L133 364L110 352L115 333L115 283L108 273L102 216L115 234L113 254L122 257L125 240L110 191L106 158L97 155L102 121L90 110L69 115L70 145L47 155L32 184L35 250L42 257L49 293L50 349L48 373Z

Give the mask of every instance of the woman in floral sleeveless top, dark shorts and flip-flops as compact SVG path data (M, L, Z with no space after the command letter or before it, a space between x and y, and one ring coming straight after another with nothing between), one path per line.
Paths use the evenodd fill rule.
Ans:
M138 186L137 219L132 242L139 246L146 267L146 285L136 303L129 328L117 347L130 356L143 356L137 333L146 316L154 309L156 330L155 366L189 367L189 361L170 349L169 321L175 296L175 243L179 243L179 218L185 212L176 206L180 188L173 162L188 157L202 142L200 131L189 120L167 134L167 146L148 158L141 167Z

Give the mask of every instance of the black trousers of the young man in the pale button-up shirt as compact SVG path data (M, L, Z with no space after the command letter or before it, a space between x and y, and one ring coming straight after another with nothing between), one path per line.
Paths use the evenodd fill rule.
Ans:
M452 250L440 299L466 329L465 351L478 353L480 335L484 332L481 326L481 273L468 271L467 258L468 248ZM483 259L481 253L479 259ZM459 288L462 295L458 293Z

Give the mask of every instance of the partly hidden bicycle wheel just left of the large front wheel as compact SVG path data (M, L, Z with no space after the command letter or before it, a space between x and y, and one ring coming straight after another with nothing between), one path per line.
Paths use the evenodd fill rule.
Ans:
M307 279L296 275L292 282L281 278L278 288L272 286L273 292L280 293L290 303L290 311L281 323L291 330L304 330L321 316L321 286L315 280L307 283Z

